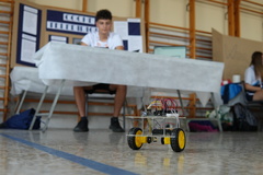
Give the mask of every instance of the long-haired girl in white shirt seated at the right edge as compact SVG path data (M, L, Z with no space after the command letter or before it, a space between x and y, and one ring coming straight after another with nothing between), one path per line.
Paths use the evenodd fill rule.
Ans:
M254 51L250 67L244 72L244 88L248 101L263 101L263 54Z

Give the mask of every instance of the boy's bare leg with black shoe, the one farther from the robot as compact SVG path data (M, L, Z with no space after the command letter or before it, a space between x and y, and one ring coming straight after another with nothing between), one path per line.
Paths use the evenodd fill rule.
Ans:
M87 132L87 131L89 131L89 128L88 128L89 121L88 121L88 118L85 116L85 93L84 93L84 89L85 88L83 88L83 86L75 86L73 88L76 105L78 107L79 115L81 117L80 121L77 124L77 126L73 129L73 131L76 131L76 132Z

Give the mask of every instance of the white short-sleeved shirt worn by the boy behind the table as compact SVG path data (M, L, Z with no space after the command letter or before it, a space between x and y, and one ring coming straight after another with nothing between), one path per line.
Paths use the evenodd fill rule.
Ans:
M105 47L105 48L110 48L110 49L115 49L117 46L123 46L122 37L118 34L113 33L113 32L111 32L108 34L108 37L107 37L106 42L101 42L100 40L99 32L87 34L81 39L81 42L91 46L91 47Z

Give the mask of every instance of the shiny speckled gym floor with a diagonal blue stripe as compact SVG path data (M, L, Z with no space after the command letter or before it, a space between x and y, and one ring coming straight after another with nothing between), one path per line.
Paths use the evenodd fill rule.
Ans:
M0 130L0 175L262 175L263 132L186 132L176 153L159 141L130 150L126 133Z

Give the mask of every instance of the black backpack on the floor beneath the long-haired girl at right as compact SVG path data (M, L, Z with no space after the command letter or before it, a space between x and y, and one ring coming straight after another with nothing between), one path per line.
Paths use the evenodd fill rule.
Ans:
M258 121L255 116L241 103L232 106L233 113L233 131L256 131Z

